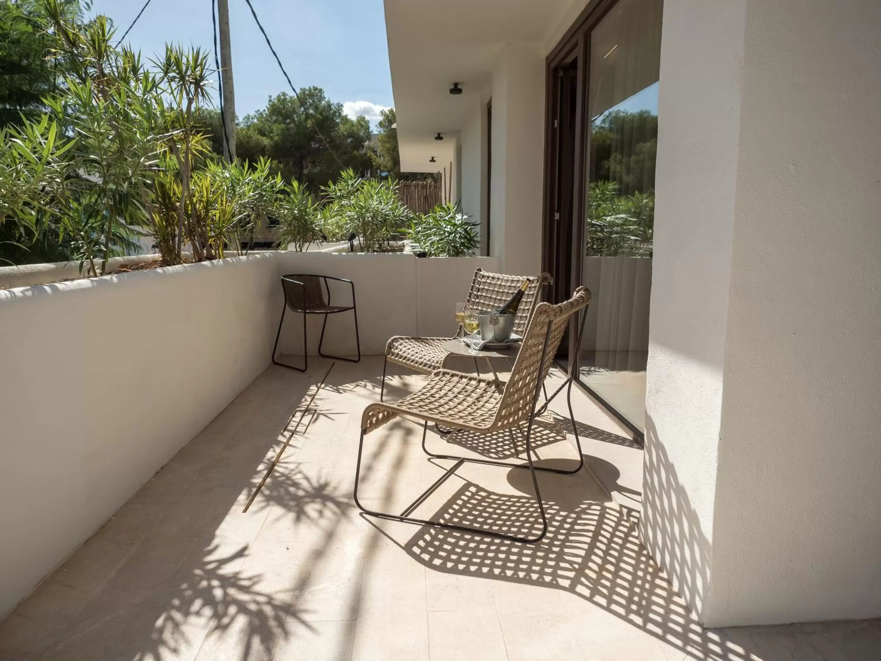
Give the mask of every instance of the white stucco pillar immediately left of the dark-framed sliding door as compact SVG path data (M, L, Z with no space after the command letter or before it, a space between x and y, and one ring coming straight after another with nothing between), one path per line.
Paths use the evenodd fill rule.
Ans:
M506 273L541 271L544 56L509 44L492 72L490 254Z

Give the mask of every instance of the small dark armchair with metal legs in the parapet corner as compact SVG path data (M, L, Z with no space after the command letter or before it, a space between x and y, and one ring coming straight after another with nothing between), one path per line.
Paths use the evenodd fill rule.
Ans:
M330 305L330 287L328 280L336 280L337 282L347 282L352 287L352 305L335 306ZM324 287L322 289L322 281ZM281 321L278 322L278 333L276 333L276 343L272 347L272 362L283 368L296 369L305 372L309 367L309 345L307 342L306 317L307 315L324 315L324 323L322 323L322 338L318 342L318 354L323 358L334 358L336 360L348 360L349 362L359 362L361 360L361 339L358 334L358 309L355 304L355 286L352 280L343 278L334 278L333 276L321 276L311 274L293 274L281 277L281 286L285 290L285 307L281 311ZM324 298L324 292L327 291L327 299ZM297 368L293 365L285 365L283 362L276 360L276 351L278 351L278 338L281 336L281 327L285 323L285 311L290 309L292 312L299 312L303 316L303 367ZM324 330L328 325L328 315L335 315L338 312L347 312L352 310L355 316L355 345L358 348L358 358L344 358L343 356L332 356L329 353L322 352L324 345Z

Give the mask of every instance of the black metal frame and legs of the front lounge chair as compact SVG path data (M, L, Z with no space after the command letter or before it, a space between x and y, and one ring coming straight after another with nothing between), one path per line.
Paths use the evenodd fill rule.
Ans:
M580 324L580 328L578 331L578 340L575 343L575 354L576 355L578 354L578 351L581 348L581 336L584 334L584 322L587 319L587 316L588 316L588 308L585 307L581 310L581 324ZM455 455L439 455L439 454L435 454L433 452L429 452L428 449L426 448L426 434L428 431L428 421L425 420L422 425L422 449L423 449L423 451L426 453L426 455L428 455L428 457L431 457L433 459L453 460L453 461L455 461L455 464L453 464L448 469L447 472L444 472L444 474L441 475L441 477L438 478L433 483L432 486L429 486L424 492L422 492L422 494L419 494L415 501L412 501L410 505L408 505L405 509L403 509L401 514L390 514L389 512L379 512L374 509L367 509L366 507L364 507L361 504L361 502L358 499L358 483L359 483L359 476L360 476L360 471L361 471L361 452L362 452L362 449L364 449L364 436L366 434L366 431L364 429L361 429L361 438L360 438L359 444L358 444L358 464L355 467L355 489L354 489L354 494L353 494L355 504L358 506L358 508L362 512L364 512L366 515L375 516L375 517L381 518L381 519L387 519L389 521L397 521L397 522L404 523L404 524L415 524L415 525L429 526L432 528L443 528L445 530L470 532L470 533L474 533L474 534L478 534L478 535L485 535L486 537L509 539L511 541L522 542L525 544L536 544L537 542L541 541L544 538L544 536L547 534L548 520L547 520L547 516L544 513L544 503L542 502L541 492L538 489L538 479L537 479L537 474L536 474L537 471L553 472L553 473L557 473L558 475L574 475L575 473L581 471L581 468L584 467L584 454L581 451L581 438L578 435L578 426L575 423L575 414L572 410L572 383L574 382L574 378L575 378L574 375L572 375L572 374L567 375L566 380L562 384L560 384L560 386L557 390L554 390L552 396L547 398L547 400L544 402L544 405L542 405L538 409L536 408L536 405L538 403L538 394L542 391L542 389L544 387L544 365L546 364L547 360L553 360L552 357L549 357L547 355L548 340L550 339L550 336L551 336L551 324L552 324L552 322L549 321L548 325L547 325L547 330L544 331L544 348L542 349L542 358L541 358L541 361L539 362L537 382L536 382L535 390L534 390L533 396L532 396L532 412L529 413L529 421L528 421L528 424L526 427L526 461L527 461L526 464L509 464L504 461L496 461L493 459L480 459L478 457L458 457ZM569 408L569 420L571 420L571 422L572 422L572 430L573 430L573 433L575 434L575 447L578 449L578 466L571 471L567 471L562 468L550 468L547 466L537 466L532 461L532 443L531 443L532 424L539 415L542 415L545 411L547 411L547 408L551 404L554 397L557 397L557 395L559 395L559 393L564 388L566 388L566 405ZM545 393L545 397L546 397L546 393ZM517 449L517 444L516 444L516 441L514 438L514 429L512 428L509 431L511 433L511 440L512 440L512 442L514 442L515 449ZM452 476L459 469L459 467L462 464L464 464L465 462L470 462L472 464L489 464L489 465L493 465L493 466L503 466L505 468L528 469L529 473L532 477L532 486L536 490L536 502L538 505L538 511L539 511L541 518L542 518L542 531L541 531L541 533L537 537L533 537L533 538L519 537L516 535L507 535L503 532L498 532L498 531L488 531L483 528L475 528L475 527L471 527L471 526L467 526L467 525L442 524L437 521L429 521L427 519L420 519L420 518L416 518L414 516L409 516L411 514L411 512L413 512L413 510L418 508L418 506L423 501L426 501L428 496L433 494L433 492L435 490L437 490L437 488L440 487L450 476Z

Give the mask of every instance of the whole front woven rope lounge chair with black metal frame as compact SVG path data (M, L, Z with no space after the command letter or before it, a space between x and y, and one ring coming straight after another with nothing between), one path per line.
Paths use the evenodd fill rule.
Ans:
M538 491L538 480L536 479L537 471L556 472L564 475L571 475L581 471L584 465L584 457L581 455L581 440L578 437L578 428L575 424L574 413L572 412L572 382L573 377L570 375L561 385L553 397L563 390L566 390L566 401L569 407L569 418L572 421L572 428L575 433L575 445L578 449L578 466L573 470L564 470L559 468L551 468L545 466L536 466L532 461L532 425L538 414L546 408L545 404L541 410L536 410L538 401L538 393L541 391L544 378L551 369L553 356L557 352L563 333L569 325L570 318L582 308L586 308L590 302L590 291L585 287L579 287L571 299L560 303L559 305L551 305L550 303L539 303L532 319L529 323L529 329L523 343L520 353L517 354L514 368L510 378L503 388L499 388L494 379L485 376L476 376L455 372L449 369L435 370L428 382L419 390L411 395L403 397L403 399L394 403L377 403L368 405L361 416L361 437L358 446L358 464L355 469L355 488L354 501L361 511L370 516L377 516L391 521L400 521L409 524L427 525L435 528L446 528L449 530L465 531L488 535L503 539L510 539L518 542L526 542L533 544L544 538L548 529L547 517L544 514L544 504L542 503L541 494ZM578 340L581 343L581 334L584 331L584 319L587 315L581 316L581 326L578 332ZM422 426L422 449L425 450L429 457L440 459L454 459L455 464L430 486L423 494L413 501L413 504L405 509L402 514L389 514L379 512L372 509L366 509L358 498L358 482L361 470L361 454L364 449L364 437L369 432L374 431L378 427L386 424L390 420L394 420L398 416L415 417L424 420ZM527 422L526 427L526 464L510 464L503 461L495 461L486 458L473 457L454 457L449 455L433 454L426 449L426 431L428 423L434 422L438 425L451 427L454 430L462 429L479 434L489 434L492 432L508 431L514 441L515 428ZM459 466L464 462L474 462L478 464L492 464L505 466L506 468L523 468L529 469L532 475L532 485L536 490L536 501L538 511L542 519L542 531L535 538L518 537L506 534L501 531L484 530L480 528L472 528L469 526L455 524L441 524L434 521L427 521L412 516L407 516L413 509L416 509L419 503L424 501L428 494L441 485Z

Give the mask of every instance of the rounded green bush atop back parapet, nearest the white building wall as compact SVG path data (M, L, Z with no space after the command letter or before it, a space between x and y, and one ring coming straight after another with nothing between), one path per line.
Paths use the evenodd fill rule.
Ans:
M456 204L439 204L433 212L417 214L402 231L429 257L469 256L480 245L477 224Z

